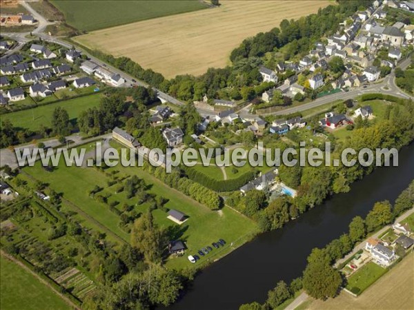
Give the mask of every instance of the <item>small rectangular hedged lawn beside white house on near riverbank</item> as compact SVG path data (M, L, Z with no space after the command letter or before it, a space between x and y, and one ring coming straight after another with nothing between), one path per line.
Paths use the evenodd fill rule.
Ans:
M373 282L386 273L386 271L387 269L378 266L375 262L368 262L368 264L364 265L364 267L348 278L346 289L360 295L365 289L372 285Z

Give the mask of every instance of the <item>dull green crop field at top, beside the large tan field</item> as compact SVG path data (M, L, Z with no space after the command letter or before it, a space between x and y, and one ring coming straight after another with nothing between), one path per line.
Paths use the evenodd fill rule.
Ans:
M109 28L115 25L207 8L206 4L197 0L52 0L51 2L63 13L69 25L81 31Z

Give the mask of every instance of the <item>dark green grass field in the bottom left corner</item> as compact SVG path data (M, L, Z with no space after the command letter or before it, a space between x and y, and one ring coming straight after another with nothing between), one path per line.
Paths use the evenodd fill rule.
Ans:
M1 256L1 310L72 309L28 271Z

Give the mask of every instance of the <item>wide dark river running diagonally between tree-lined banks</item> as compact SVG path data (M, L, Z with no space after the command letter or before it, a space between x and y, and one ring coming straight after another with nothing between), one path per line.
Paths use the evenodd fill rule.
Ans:
M375 202L395 198L414 179L414 143L399 154L398 167L381 167L302 214L282 229L257 236L213 263L195 278L192 287L168 309L239 309L247 302L264 302L279 280L302 275L314 247L348 231L355 216L366 216Z

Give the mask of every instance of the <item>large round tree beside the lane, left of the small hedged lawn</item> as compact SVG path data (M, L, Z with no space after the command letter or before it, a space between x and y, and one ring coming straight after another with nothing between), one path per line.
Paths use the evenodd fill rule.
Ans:
M342 278L339 271L329 265L326 256L319 254L308 262L302 282L309 296L326 300L335 297L342 284Z

